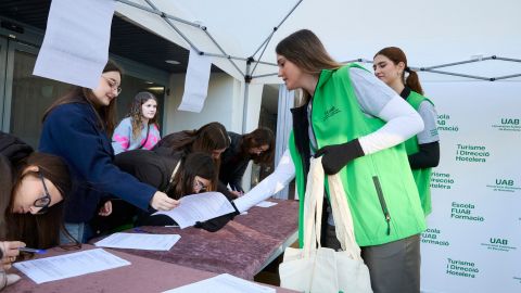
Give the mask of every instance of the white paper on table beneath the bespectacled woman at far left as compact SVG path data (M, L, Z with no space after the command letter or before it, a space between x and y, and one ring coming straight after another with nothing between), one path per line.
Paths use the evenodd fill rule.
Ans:
M15 263L37 284L130 265L102 249Z

